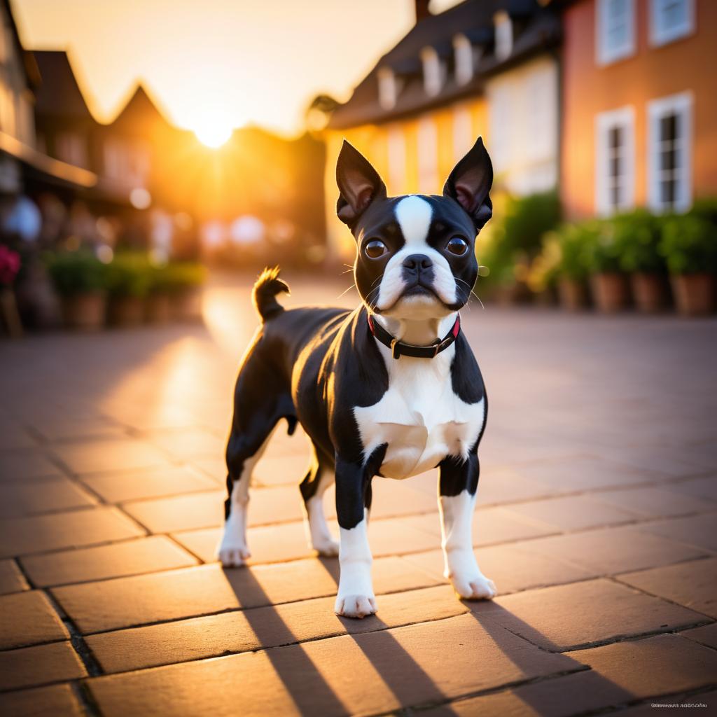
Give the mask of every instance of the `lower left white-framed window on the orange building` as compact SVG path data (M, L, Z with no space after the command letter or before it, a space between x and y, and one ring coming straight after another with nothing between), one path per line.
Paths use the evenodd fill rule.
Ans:
M635 201L635 110L597 115L595 204L598 214L631 209Z

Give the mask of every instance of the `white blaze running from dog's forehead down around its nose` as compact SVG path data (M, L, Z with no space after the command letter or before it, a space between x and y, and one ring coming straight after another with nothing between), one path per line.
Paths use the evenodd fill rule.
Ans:
M456 282L450 265L440 252L427 244L433 216L432 206L422 197L412 194L399 201L394 214L406 243L386 264L376 305L379 309L385 309L396 303L405 288L404 259L417 253L424 254L432 260L433 288L441 300L447 304L455 303Z

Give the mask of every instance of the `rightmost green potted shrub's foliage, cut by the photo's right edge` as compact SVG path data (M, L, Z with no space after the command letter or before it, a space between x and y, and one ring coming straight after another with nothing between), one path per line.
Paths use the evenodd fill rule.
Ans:
M717 224L696 212L663 222L660 253L671 274L717 272Z

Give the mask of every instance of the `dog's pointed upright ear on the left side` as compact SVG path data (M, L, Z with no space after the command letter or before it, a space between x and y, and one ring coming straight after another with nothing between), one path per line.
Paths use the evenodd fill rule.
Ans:
M385 199L386 185L364 155L346 140L336 162L336 214L352 227L374 199Z

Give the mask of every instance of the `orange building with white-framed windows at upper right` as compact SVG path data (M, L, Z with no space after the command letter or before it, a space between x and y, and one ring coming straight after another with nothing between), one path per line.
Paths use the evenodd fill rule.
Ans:
M567 217L717 195L717 3L581 0L563 23Z

